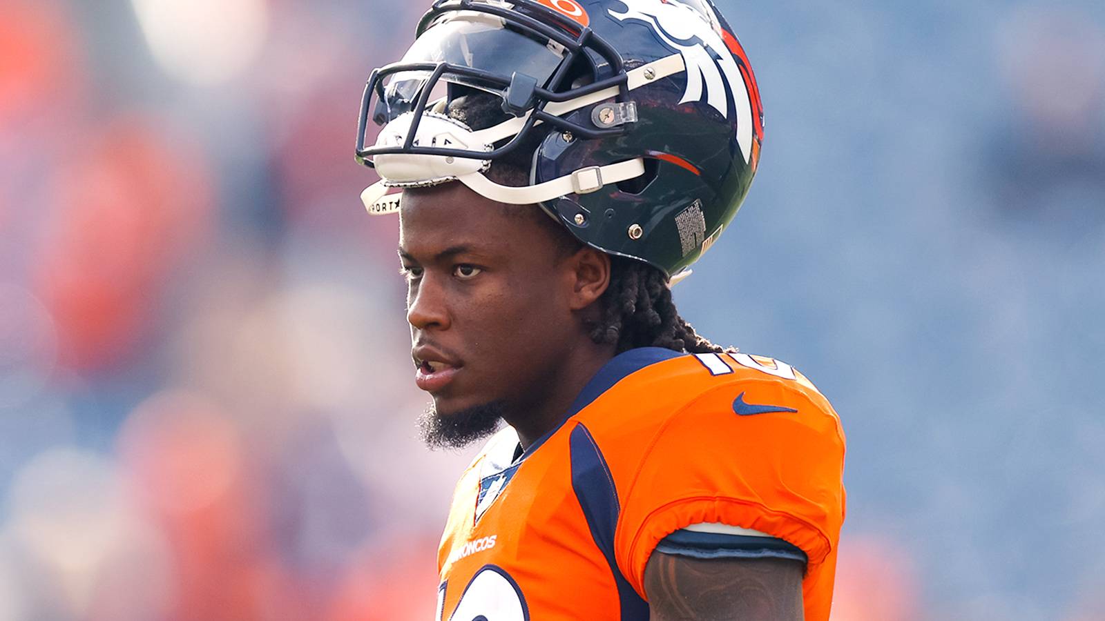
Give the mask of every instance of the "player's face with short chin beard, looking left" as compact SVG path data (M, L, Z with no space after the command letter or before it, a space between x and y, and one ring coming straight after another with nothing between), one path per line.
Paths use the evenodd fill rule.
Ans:
M526 408L578 338L570 253L536 215L456 182L403 192L399 253L415 380L441 420L492 403Z

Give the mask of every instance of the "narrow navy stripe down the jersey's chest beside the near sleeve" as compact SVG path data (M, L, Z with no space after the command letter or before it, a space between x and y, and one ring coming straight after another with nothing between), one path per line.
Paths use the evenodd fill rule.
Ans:
M648 602L630 586L629 580L618 568L618 560L614 557L614 530L618 528L621 506L613 475L610 474L594 438L582 423L571 430L568 442L571 455L571 488L576 492L580 508L583 509L583 517L591 529L594 545L610 565L614 585L618 587L621 620L648 621Z

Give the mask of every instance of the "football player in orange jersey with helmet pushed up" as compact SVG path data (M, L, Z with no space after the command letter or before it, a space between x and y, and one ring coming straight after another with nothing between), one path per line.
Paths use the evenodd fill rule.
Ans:
M494 434L456 486L439 621L829 618L840 421L671 295L762 135L708 0L439 0L372 73L362 200L399 214L425 439Z

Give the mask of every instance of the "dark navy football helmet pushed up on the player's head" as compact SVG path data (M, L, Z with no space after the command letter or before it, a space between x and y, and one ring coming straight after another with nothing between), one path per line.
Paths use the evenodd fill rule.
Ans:
M505 120L445 114L475 91ZM751 66L709 0L438 0L372 72L357 160L381 179L361 196L371 213L398 211L392 188L460 181L672 278L740 208L762 137ZM485 175L507 155L527 158L528 185Z

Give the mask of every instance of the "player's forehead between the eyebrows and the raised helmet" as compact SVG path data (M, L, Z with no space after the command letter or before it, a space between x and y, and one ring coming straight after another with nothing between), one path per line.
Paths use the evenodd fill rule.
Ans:
M400 202L399 248L418 256L456 245L492 254L550 245L550 235L524 209L540 208L507 208L457 182L410 188Z

